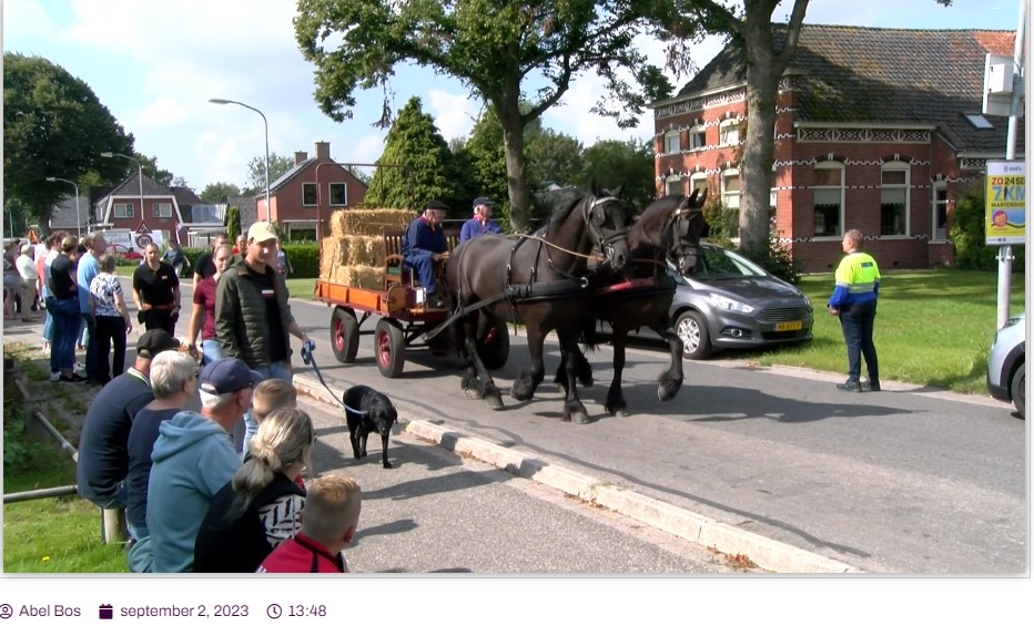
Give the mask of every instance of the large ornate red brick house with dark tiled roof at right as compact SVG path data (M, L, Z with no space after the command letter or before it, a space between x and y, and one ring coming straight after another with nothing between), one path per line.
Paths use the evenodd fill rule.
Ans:
M1014 34L803 25L779 85L771 193L773 237L803 270L835 267L850 228L886 268L954 263L955 198L1005 157L1007 119L981 114L985 54L1012 57ZM706 185L739 206L746 76L730 47L651 104L659 194Z

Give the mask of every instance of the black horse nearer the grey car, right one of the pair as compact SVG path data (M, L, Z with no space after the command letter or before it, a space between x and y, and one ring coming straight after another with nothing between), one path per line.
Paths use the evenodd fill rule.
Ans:
M667 267L670 263L685 276L697 267L700 237L708 230L702 209L707 189L702 194L698 192L688 197L665 196L650 203L628 230L629 261L624 271L604 267L592 280L596 287L589 309L592 317L586 321L582 338L590 346L599 343L594 331L597 320L610 322L614 379L605 408L611 415L628 414L621 391L625 341L629 332L643 326L663 337L671 351L668 370L658 379L657 397L661 401L671 400L682 387L683 345L671 329L668 315L676 285L667 275ZM591 368L580 350L575 355L575 371L582 384L591 384ZM564 387L570 379L558 371L556 382Z

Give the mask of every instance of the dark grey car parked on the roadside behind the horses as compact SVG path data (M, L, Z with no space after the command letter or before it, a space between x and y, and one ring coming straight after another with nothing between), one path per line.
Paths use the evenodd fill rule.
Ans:
M811 341L814 314L808 296L731 250L702 246L696 274L676 276L671 301L671 320L686 358Z

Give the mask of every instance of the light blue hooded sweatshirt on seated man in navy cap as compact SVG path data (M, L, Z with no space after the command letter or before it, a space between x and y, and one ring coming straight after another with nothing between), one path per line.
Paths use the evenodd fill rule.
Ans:
M151 452L148 531L154 572L191 572L209 503L241 469L223 427L193 411L162 422Z

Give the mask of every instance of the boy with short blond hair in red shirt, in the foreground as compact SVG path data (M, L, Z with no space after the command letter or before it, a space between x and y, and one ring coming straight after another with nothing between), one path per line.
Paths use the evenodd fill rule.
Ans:
M341 474L312 482L302 510L302 530L280 544L260 574L344 574L351 572L342 550L352 543L363 507L363 490Z

